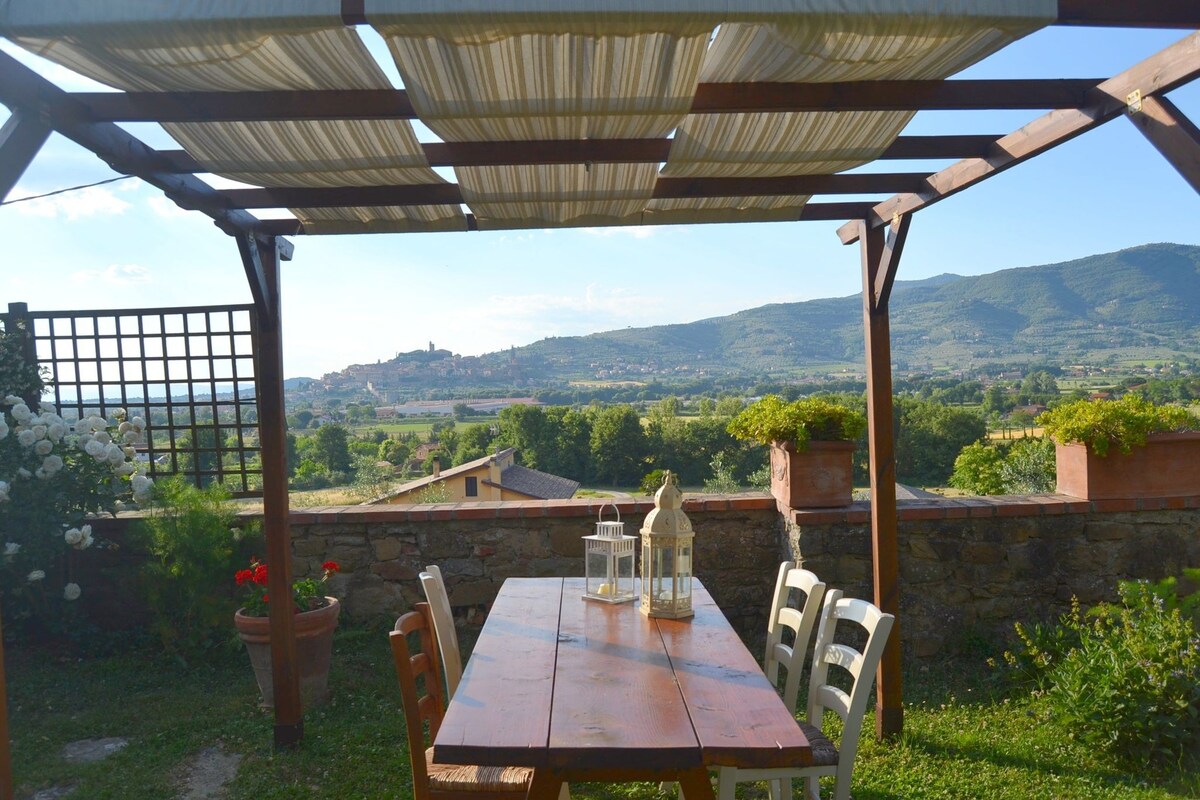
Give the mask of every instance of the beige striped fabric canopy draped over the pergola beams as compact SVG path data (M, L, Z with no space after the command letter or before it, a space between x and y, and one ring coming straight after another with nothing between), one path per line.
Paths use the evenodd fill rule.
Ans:
M1052 22L1057 4L366 0L364 10L419 119L445 142L671 138L661 167L458 167L463 204L486 230L796 219L809 196L656 199L655 182L851 169L883 152L912 113L691 114L698 84L944 78ZM0 0L0 32L130 91L391 88L336 0ZM205 170L259 186L445 182L406 120L163 127ZM306 233L467 227L452 204L292 211Z

